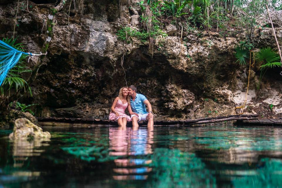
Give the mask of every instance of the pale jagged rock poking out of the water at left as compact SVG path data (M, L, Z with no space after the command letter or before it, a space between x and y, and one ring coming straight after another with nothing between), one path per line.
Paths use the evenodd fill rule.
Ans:
M26 118L16 119L14 130L9 135L10 139L28 139L28 138L51 138L49 132L43 132L41 127L34 125Z

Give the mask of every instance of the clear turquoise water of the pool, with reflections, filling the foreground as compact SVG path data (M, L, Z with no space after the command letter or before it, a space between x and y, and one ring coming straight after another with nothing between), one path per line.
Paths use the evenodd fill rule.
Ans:
M44 126L0 130L0 187L282 187L282 128Z

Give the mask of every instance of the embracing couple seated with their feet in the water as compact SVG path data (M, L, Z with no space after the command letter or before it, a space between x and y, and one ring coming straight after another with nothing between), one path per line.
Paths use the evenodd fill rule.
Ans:
M123 127L126 127L127 121L130 120L132 127L138 127L139 121L146 120L148 121L147 127L152 128L154 125L152 106L149 100L144 95L136 93L136 90L134 85L120 89L118 97L113 102L109 119L117 121L117 124ZM146 111L145 105L149 112ZM126 108L128 108L131 118L124 112Z

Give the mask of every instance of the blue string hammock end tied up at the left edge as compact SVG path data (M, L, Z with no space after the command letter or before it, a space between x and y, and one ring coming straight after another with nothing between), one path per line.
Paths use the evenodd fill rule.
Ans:
M23 54L32 56L31 53L19 51L0 40L0 86L8 71L18 63Z

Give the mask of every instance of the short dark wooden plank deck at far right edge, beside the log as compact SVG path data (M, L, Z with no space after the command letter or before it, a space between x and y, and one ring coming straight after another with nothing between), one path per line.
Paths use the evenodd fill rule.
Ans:
M237 125L264 125L264 126L282 126L282 117L273 119L273 118L264 118L258 120L243 120L236 122Z

